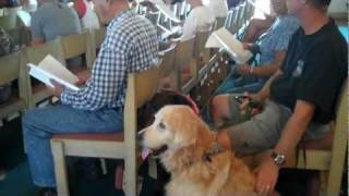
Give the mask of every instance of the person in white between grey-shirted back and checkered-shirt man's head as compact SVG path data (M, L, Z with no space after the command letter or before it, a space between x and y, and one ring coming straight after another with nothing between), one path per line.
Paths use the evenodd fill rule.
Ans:
M96 12L91 8L86 0L76 0L73 8L79 15L82 29L100 27Z

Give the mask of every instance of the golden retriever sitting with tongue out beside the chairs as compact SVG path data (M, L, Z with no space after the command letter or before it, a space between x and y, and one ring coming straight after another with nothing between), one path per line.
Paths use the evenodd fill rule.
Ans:
M143 146L159 155L171 173L167 196L253 196L255 176L186 106L166 106L141 131ZM166 147L166 148L164 148Z

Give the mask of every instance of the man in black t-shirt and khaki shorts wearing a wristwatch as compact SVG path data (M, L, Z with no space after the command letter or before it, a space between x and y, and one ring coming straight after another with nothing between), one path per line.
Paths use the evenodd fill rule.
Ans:
M257 169L256 191L262 195L274 191L280 167L289 161L302 138L318 139L328 133L348 74L346 40L326 15L330 0L288 2L289 12L302 27L293 34L281 69L260 93L250 95L264 103L264 109L217 135L221 145L239 156L273 149ZM215 97L215 122L238 119L249 102L245 99L240 105L232 95Z

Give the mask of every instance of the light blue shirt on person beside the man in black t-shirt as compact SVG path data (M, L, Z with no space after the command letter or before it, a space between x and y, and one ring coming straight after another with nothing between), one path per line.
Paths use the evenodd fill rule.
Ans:
M286 51L291 36L299 26L298 19L292 15L277 17L258 44L260 64L270 63L275 60L277 52Z

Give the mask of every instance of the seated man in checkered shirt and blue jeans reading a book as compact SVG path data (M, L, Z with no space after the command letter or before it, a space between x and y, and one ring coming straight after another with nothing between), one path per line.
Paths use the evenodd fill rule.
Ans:
M34 109L23 118L33 181L41 187L41 195L56 195L52 134L121 132L128 74L148 70L156 62L156 28L135 14L128 0L94 3L109 25L92 76L80 90L56 85L52 91L62 105Z

